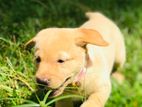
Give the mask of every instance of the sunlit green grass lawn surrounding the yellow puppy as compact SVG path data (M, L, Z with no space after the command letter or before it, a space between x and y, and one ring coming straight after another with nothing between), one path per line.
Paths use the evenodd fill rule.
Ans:
M0 107L35 101L34 56L24 44L42 28L80 26L86 11L104 13L125 37L126 79L112 79L106 107L142 107L141 0L0 0Z

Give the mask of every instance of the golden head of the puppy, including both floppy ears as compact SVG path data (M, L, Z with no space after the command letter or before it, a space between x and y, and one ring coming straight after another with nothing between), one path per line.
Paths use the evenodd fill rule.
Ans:
M107 45L97 31L84 28L45 29L26 45L34 43L37 81L56 89L54 96L61 94L84 66L86 44Z

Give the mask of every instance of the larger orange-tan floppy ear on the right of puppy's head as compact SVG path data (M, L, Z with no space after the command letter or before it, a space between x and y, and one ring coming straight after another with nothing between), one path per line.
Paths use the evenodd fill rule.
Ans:
M85 46L86 44L93 44L97 46L107 46L108 43L103 39L100 33L96 30L80 28L78 29L81 35L77 39L77 45Z

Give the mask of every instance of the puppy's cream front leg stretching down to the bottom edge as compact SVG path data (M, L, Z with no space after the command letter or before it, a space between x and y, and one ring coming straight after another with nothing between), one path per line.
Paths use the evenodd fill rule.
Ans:
M104 107L111 92L110 83L99 88L99 90L89 96L81 107Z

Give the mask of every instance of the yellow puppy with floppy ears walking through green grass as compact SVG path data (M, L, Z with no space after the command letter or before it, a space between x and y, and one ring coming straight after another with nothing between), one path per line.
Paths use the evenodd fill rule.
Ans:
M60 95L70 83L80 83L88 99L81 107L103 107L111 93L110 74L125 62L125 45L119 28L98 12L79 28L47 28L35 43L37 82Z

